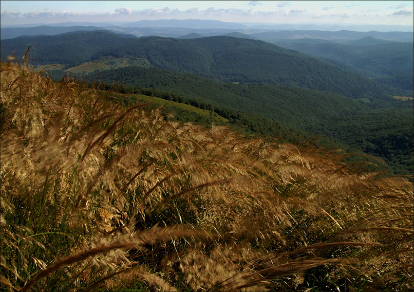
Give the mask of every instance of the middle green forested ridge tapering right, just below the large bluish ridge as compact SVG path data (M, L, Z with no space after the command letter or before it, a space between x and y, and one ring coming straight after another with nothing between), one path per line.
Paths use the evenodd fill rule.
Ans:
M90 77L93 78L93 77ZM195 74L128 67L99 72L100 80L121 80L133 87L154 88L196 99L213 107L242 110L302 127L367 108L339 94L269 84L232 84Z

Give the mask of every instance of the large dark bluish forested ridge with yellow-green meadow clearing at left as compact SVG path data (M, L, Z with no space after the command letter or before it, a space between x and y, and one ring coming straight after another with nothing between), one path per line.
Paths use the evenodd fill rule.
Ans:
M1 59L33 46L33 64L75 66L103 56L140 57L154 66L240 83L269 83L375 99L401 90L349 73L317 58L252 39L202 37L131 38L107 32L18 37L1 41ZM67 67L67 68L69 68Z

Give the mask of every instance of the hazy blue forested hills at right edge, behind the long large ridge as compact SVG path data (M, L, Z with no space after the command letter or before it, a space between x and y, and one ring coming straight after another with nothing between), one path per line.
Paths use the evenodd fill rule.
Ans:
M302 38L283 39L275 44L324 58L341 68L347 66L348 70L381 83L413 91L413 42L392 42L364 37L348 43ZM354 69L349 69L349 66Z

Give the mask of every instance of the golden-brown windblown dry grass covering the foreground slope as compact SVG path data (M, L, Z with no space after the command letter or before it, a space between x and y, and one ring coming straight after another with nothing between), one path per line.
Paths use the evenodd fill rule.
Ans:
M9 291L408 291L413 184L1 63Z

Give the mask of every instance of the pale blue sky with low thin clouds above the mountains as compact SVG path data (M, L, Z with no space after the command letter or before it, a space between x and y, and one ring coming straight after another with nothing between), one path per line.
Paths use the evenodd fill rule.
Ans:
M404 25L413 24L414 1L8 1L1 26L67 21L132 22L214 19L239 23Z

